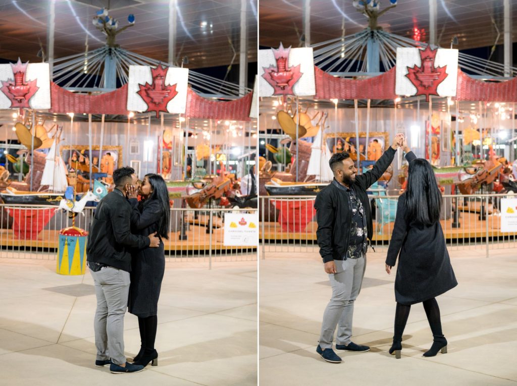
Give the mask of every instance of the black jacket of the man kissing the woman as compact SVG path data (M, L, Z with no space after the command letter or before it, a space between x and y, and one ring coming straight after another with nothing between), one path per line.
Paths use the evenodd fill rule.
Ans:
M150 244L149 237L131 233L132 209L118 189L100 200L88 234L87 261L131 271L130 249Z

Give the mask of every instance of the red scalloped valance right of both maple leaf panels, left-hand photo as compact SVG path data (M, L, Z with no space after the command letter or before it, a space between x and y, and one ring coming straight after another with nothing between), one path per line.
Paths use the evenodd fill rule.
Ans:
M187 90L187 108L185 116L204 119L229 119L249 121L253 92L233 101L213 101L197 95L190 88Z

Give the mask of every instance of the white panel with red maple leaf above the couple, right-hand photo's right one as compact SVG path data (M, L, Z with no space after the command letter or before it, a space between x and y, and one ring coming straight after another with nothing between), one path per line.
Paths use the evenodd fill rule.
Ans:
M428 66L422 66L425 53L432 54ZM399 47L396 74L395 93L398 95L456 96L458 50Z

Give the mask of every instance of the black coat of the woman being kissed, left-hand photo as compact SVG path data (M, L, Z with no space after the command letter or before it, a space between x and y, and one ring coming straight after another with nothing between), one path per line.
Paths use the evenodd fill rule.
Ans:
M158 200L138 202L131 213L131 232L148 236L158 231L163 211ZM165 271L163 242L158 248L135 250L131 254L131 285L129 286L128 310L139 317L154 316L158 313L158 298Z

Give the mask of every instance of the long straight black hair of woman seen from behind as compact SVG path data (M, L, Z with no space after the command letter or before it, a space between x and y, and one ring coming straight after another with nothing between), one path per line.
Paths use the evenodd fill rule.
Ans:
M433 168L422 158L409 163L406 189L406 221L425 225L440 219L442 193L436 183Z

